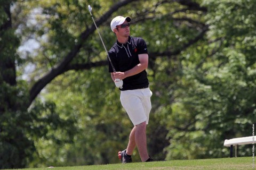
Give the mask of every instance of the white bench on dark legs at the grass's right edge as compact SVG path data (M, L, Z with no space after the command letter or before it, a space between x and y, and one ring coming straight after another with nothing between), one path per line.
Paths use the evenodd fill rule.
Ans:
M230 147L230 157L233 157L233 146L235 146L235 157L237 157L237 149L238 149L239 145L254 144L255 140L256 140L255 136L234 138L234 139L229 139L229 140L226 139L224 141L224 146Z

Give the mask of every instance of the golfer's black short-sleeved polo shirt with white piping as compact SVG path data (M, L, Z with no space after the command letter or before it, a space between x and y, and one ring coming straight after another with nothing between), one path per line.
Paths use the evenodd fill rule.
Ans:
M139 64L139 54L148 54L146 42L142 38L131 36L129 36L126 44L116 41L108 52L116 72L125 72ZM109 72L114 72L110 63ZM146 88L149 84L146 70L123 79L123 82L123 88L120 90Z

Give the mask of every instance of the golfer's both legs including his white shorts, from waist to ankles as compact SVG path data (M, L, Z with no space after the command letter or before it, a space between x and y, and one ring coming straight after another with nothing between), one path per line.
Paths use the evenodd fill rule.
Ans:
M141 101L141 98L138 97L141 94L142 98L144 98L144 101ZM132 155L132 152L136 146L139 150L142 162L146 162L149 159L147 151L146 126L148 124L149 112L151 109L151 95L152 94L149 88L121 91L121 104L125 108L127 114L129 115L130 120L135 125L130 133L129 143L126 150L118 152L118 157L119 159L121 159L121 162L123 162L122 154L124 155L125 152L127 155ZM136 123L141 122L143 120L146 121L140 124Z

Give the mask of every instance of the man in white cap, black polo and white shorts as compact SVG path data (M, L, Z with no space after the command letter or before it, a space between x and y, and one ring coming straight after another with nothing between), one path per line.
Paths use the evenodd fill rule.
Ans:
M118 157L122 163L131 163L132 152L137 146L141 161L152 162L146 140L152 96L146 72L148 52L145 40L130 36L130 21L130 17L116 16L110 23L117 41L108 52L116 72L110 63L109 72L116 87L121 90L121 104L134 125L127 148L119 151Z

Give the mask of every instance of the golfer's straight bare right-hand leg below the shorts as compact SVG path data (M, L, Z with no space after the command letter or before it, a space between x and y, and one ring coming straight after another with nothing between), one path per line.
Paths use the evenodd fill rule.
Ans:
M137 144L142 162L146 162L146 160L149 158L147 150L146 127L146 122L142 122L135 126L135 143Z

